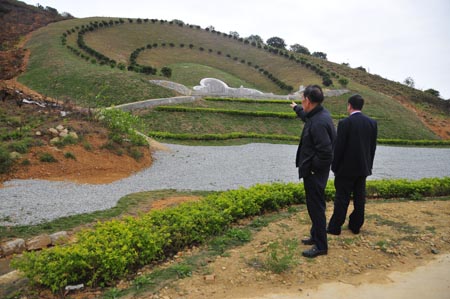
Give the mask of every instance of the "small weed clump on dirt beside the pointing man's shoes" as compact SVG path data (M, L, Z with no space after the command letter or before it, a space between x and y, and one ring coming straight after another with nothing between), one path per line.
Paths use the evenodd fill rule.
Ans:
M279 242L269 244L265 268L277 274L291 269L298 264L297 251L297 239L283 240L281 244Z

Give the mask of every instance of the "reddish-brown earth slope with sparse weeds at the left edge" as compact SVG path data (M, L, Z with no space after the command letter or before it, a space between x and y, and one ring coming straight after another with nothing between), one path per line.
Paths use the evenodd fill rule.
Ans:
M30 54L23 48L29 33L67 18L71 17L51 8L0 1L0 188L2 182L17 178L108 183L151 164L147 146L133 149L133 158L126 154L126 144L111 143L111 130L104 124L16 81ZM16 91L20 97L16 97ZM24 104L22 98L38 101L39 105ZM41 107L43 104L47 106ZM63 111L67 116L62 116ZM77 132L80 141L50 144L53 137L48 129L62 124ZM44 156L56 162L41 161Z

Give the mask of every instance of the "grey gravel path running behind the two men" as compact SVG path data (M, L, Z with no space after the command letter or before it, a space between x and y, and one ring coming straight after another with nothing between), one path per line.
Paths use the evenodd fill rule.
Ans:
M297 182L297 146L183 146L154 154L152 167L110 184L12 180L0 189L0 225L28 225L104 210L130 193L159 190L228 190L256 183ZM377 148L370 179L450 176L450 149Z

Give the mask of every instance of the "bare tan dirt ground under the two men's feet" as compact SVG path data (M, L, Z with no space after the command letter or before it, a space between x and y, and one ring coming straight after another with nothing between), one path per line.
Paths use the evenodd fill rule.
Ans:
M328 208L328 216L331 210ZM359 297L355 294L364 295L361 298L424 298L424 293L433 294L427 298L448 298L449 220L450 201L371 202L361 234L344 230L340 236L330 236L327 256L305 259L300 253L307 247L299 245L297 264L290 270L281 274L264 270L270 244L308 234L310 224L303 210L271 223L250 243L217 257L192 277L179 280L153 298L349 298L342 294L355 298ZM436 276L444 280L433 279ZM335 296L338 290L341 297ZM422 295L397 296L411 293ZM152 297L144 294L137 298Z

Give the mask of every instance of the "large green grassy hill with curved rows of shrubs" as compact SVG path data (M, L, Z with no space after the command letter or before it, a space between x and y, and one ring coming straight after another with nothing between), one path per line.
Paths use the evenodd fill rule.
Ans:
M86 29L85 45L107 57L106 62L79 48L78 32L83 29ZM72 19L39 29L27 47L31 50L28 69L19 80L45 95L81 106L108 107L174 96L173 91L148 82L167 79L161 76L160 70L170 67L170 80L186 86L198 85L204 77L216 77L232 87L243 85L275 94L288 94L286 86L295 91L300 85L322 84L323 74L328 74L334 82L329 88L341 88L338 79L345 77L349 79L347 88L351 93L360 93L366 99L365 112L377 118L380 138L438 139L414 112L400 104L399 98L440 111L442 117L448 118L448 105L421 91L326 60L264 49L195 25L117 18ZM137 53L137 68L151 66L156 73L128 71L133 52ZM284 87L276 84L277 80ZM348 96L327 98L325 106L332 113L345 114ZM217 103L200 101L193 105L209 107ZM230 105L228 109L244 109L242 106L255 111L276 109L274 105L264 108L255 104L227 105ZM291 112L287 103L282 109ZM223 115L204 112L195 115L150 110L141 116L146 120L146 130L172 133L239 131L294 135L300 126L296 120L283 120L289 123L284 125L280 119L256 120L251 116L233 116L233 120L222 124ZM259 125L254 125L258 122ZM211 123L216 125L208 125Z

